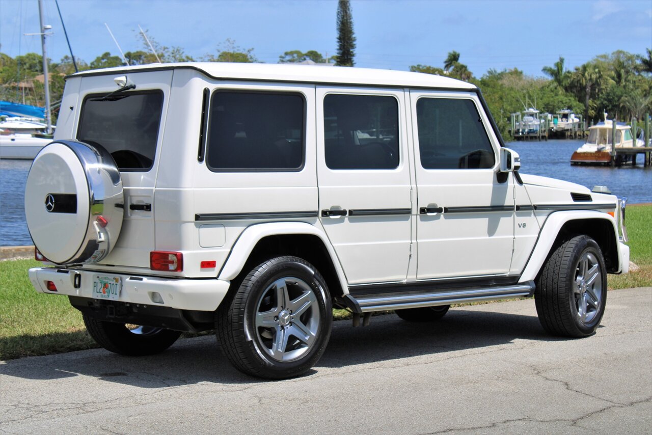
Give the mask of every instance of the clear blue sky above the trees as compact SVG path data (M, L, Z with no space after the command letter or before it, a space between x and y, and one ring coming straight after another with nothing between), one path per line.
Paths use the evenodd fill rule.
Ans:
M46 0L48 57L68 54L54 1ZM138 25L164 46L201 57L218 52L226 38L254 48L266 63L289 50L336 53L337 1L59 0L76 57L89 63L103 52L141 48ZM461 53L475 76L489 68L518 67L531 76L559 55L567 67L603 53L652 48L652 0L563 1L351 1L357 67L407 70L441 67L447 53ZM0 0L0 51L40 53L36 0Z

